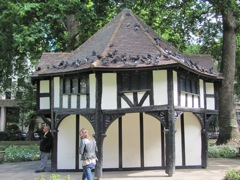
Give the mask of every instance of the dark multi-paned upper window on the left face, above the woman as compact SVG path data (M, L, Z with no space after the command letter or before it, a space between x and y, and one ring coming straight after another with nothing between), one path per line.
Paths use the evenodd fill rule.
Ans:
M67 77L63 80L64 94L86 94L87 93L87 76Z

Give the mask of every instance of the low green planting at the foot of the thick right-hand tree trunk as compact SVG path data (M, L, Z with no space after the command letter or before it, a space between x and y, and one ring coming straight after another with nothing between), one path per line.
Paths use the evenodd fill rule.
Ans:
M210 158L236 158L237 148L231 146L209 146L208 157Z

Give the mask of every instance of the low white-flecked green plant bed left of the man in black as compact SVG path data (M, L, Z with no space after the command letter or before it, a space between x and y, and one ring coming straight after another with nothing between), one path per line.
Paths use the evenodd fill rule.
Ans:
M4 159L7 162L35 161L39 160L39 145L9 146L5 149Z

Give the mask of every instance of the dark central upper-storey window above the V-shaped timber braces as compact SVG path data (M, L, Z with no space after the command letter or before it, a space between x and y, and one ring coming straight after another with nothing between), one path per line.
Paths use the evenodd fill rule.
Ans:
M134 72L120 74L121 91L143 91L151 87L151 72Z

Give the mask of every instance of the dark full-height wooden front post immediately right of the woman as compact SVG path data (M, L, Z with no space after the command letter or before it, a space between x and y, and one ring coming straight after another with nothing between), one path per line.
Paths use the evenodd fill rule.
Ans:
M102 74L96 72L96 114L95 114L95 138L98 147L98 161L95 167L95 178L102 177L102 163L103 163L103 116L101 112L102 104Z

